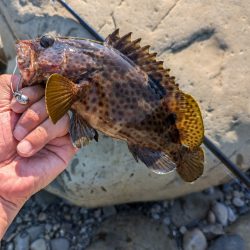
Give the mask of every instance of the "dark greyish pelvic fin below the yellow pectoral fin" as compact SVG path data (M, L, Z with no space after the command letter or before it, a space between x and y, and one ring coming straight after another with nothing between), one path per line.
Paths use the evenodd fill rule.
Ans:
M73 145L77 148L85 146L90 140L98 141L97 131L74 110L70 113L70 136Z

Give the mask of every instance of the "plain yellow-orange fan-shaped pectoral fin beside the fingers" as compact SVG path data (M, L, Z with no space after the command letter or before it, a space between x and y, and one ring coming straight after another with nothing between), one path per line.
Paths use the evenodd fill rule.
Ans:
M45 88L45 102L54 124L71 108L78 91L77 85L62 75L53 74L49 77Z

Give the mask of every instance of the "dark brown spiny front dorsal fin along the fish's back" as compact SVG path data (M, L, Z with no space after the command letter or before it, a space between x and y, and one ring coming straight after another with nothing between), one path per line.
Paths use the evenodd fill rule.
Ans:
M159 82L167 90L178 90L178 84L176 84L174 78L169 75L170 69L164 69L163 61L156 60L157 53L150 53L149 45L141 47L141 38L132 41L131 35L132 33L130 32L120 37L119 29L116 29L105 39L105 44L120 51L120 53L146 72L152 80Z

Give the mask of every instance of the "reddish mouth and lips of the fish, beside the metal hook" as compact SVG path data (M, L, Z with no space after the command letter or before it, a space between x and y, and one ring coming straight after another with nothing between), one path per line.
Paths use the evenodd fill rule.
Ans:
M23 79L24 85L31 85L36 75L35 51L32 48L32 41L17 41L17 65Z

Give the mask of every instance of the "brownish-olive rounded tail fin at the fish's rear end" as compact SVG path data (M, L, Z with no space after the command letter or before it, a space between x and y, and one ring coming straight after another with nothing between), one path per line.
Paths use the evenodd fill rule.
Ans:
M188 149L183 147L180 153L177 172L184 181L193 182L199 178L204 169L204 151L201 147Z

